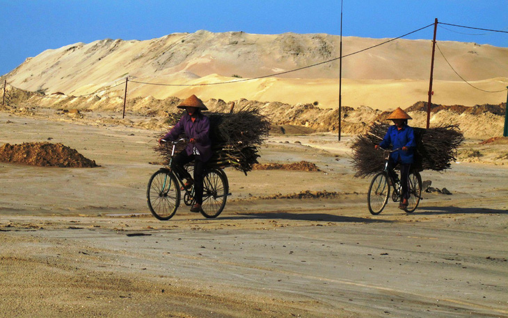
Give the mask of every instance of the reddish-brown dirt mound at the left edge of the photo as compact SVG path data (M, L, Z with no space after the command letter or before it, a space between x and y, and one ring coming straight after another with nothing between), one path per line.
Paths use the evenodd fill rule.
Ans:
M0 147L0 161L39 167L97 167L95 160L87 159L76 150L63 144L51 144L50 142L3 144Z

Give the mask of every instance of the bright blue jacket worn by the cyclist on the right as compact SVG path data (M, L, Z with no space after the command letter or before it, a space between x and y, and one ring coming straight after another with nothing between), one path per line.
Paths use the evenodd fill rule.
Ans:
M416 148L415 133L413 128L404 125L402 126L402 129L399 130L395 125L390 126L390 128L388 128L388 132L383 138L383 141L381 144L379 144L379 147L388 149L390 144L392 144L393 149L402 147L408 147L409 149L408 151L403 151L400 149L399 151L390 153L390 158L392 158L392 160L399 162L400 159L400 162L402 163L413 163L413 157Z

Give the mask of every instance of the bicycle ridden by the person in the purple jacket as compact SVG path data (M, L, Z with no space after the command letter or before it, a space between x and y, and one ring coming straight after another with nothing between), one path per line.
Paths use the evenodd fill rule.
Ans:
M166 142L166 140L163 140ZM150 177L146 198L148 208L152 215L161 221L166 221L175 215L180 206L182 191L184 191L184 204L193 206L196 203L194 199L194 187L187 189L184 181L173 169L171 162L175 155L175 147L179 142L186 141L184 138L172 141L173 149L171 151L169 165L162 167ZM207 218L214 218L221 214L225 206L225 201L230 195L228 177L221 167L205 167L203 171L203 204L201 205L201 214Z

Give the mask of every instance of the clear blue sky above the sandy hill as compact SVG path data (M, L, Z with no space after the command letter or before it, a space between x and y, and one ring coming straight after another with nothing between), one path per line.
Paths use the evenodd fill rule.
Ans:
M207 30L340 34L340 0L0 0L0 74L46 49ZM343 0L342 35L390 38L434 23L508 31L508 0ZM431 39L433 28L408 39ZM462 34L466 33L466 34ZM439 24L437 39L508 47L508 33ZM508 61L507 61L508 62Z

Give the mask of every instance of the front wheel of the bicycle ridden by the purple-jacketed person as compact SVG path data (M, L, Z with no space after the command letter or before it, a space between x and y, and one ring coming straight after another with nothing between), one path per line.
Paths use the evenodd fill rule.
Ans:
M180 206L180 188L175 175L168 169L155 172L148 181L146 200L150 212L157 219L165 221L173 217Z

